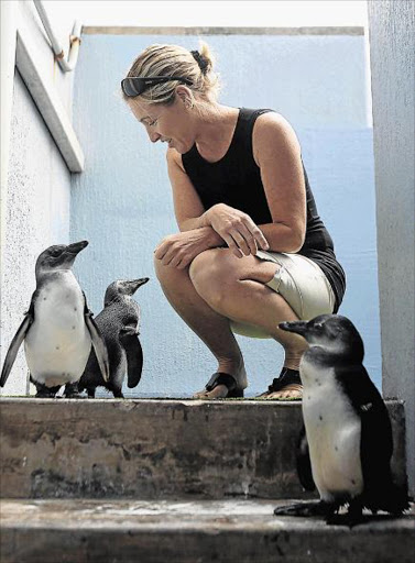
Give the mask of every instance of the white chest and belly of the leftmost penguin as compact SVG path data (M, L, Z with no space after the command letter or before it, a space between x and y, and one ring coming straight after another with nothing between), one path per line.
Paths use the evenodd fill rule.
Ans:
M39 291L34 322L24 341L32 377L48 387L76 382L91 346L84 320L84 296L72 272Z

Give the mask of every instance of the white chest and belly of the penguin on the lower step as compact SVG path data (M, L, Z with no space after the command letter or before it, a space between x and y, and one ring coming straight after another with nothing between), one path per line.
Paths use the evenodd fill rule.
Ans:
M332 368L302 364L303 415L313 477L324 500L352 498L363 489L361 421Z

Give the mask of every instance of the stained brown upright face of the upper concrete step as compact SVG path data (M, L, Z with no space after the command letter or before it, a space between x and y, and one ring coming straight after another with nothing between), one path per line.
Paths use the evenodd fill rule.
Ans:
M403 406L387 407L403 482ZM301 424L298 402L2 398L0 495L306 498Z

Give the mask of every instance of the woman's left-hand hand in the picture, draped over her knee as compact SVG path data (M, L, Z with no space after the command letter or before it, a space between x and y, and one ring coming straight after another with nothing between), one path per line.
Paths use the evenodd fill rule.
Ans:
M201 252L223 244L210 227L193 229L165 236L154 251L164 266L187 267Z

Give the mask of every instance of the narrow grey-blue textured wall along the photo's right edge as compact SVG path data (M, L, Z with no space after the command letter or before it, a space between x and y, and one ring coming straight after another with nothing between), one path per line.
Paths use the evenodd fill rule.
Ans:
M415 490L414 2L369 2L383 389L405 401Z

